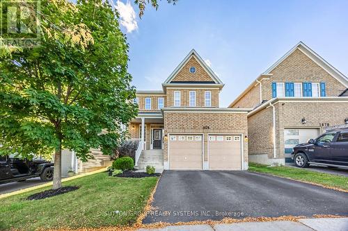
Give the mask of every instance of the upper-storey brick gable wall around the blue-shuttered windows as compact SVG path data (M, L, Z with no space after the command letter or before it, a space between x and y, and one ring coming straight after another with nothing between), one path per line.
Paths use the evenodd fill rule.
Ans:
M271 71L271 78L262 81L262 99L272 98L272 82L324 82L326 85L326 96L338 96L346 87L338 80L330 76L322 67L319 67L307 55L297 49L289 55L278 67Z

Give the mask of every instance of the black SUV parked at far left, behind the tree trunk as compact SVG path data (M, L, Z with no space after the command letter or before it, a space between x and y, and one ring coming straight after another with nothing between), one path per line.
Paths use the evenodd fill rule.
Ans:
M0 156L0 185L37 176L40 176L42 181L50 181L53 179L53 165L45 160L22 160L8 155Z

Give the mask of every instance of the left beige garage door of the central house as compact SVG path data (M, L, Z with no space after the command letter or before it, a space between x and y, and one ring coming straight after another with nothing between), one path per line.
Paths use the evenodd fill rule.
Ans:
M169 135L169 169L201 170L203 166L202 135Z

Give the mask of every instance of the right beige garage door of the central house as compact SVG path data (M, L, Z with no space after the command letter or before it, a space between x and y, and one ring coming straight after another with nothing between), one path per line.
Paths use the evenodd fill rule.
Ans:
M242 170L242 137L240 135L209 135L210 170Z

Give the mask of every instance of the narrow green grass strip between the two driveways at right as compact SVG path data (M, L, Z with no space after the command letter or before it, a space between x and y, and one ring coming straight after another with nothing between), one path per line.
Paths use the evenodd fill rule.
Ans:
M335 176L328 173L318 173L306 169L293 168L288 166L267 166L264 164L249 163L249 171L258 173L269 173L275 176L282 176L294 180L301 180L323 185L324 187L335 187L348 190L348 178Z

